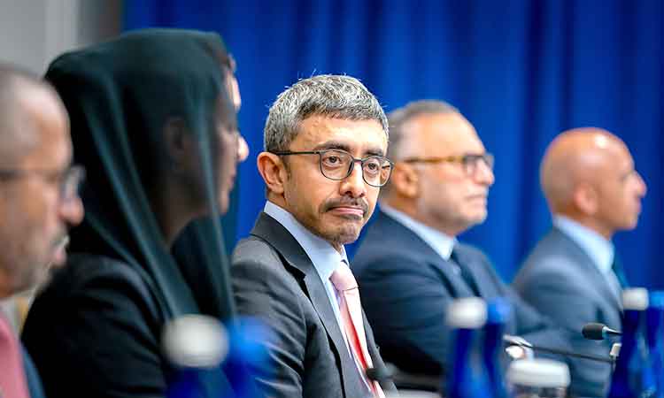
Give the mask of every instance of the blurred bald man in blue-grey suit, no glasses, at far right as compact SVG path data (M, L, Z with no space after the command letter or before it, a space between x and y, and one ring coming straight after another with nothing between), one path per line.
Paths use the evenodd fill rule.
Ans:
M645 182L625 143L593 127L556 137L540 180L553 227L526 258L514 287L575 336L577 351L607 356L610 341L586 341L580 332L589 322L621 327L627 280L611 239L637 226ZM608 364L578 360L571 368L572 394L606 396Z

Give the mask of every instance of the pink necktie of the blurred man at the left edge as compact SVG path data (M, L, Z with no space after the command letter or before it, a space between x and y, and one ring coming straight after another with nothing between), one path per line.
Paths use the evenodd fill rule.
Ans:
M0 397L30 398L19 341L0 310Z

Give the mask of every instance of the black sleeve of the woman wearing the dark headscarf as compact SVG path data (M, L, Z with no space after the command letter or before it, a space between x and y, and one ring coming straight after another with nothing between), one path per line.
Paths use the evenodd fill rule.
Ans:
M127 265L93 258L58 272L28 314L22 337L47 396L163 396L150 295Z

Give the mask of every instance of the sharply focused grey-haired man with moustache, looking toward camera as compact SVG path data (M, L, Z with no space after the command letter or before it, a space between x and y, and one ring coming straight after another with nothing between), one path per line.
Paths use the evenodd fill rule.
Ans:
M237 310L266 323L269 361L255 369L274 397L384 396L382 369L344 244L355 241L390 179L387 118L348 76L300 80L280 94L259 154L264 212L231 269ZM247 336L252 338L252 336Z

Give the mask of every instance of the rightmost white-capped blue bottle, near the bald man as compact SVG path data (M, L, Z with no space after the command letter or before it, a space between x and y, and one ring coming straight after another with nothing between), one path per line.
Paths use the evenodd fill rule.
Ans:
M648 291L642 287L623 290L622 307L622 346L608 398L644 398L649 396L644 383L647 355L640 326L648 308Z

